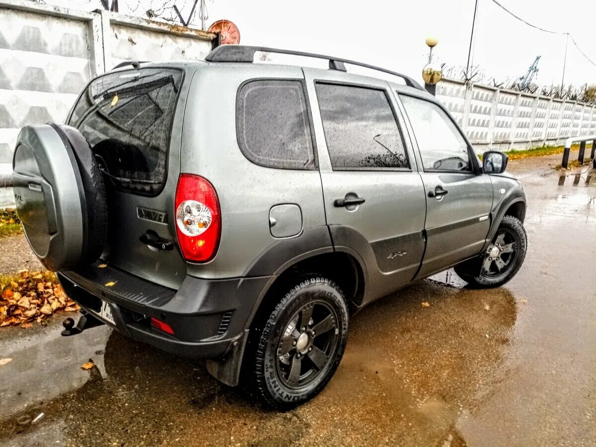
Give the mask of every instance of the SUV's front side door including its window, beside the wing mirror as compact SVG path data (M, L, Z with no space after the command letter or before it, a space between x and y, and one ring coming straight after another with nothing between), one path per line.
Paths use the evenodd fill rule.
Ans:
M478 159L440 105L399 95L417 145L426 191L427 247L418 278L480 252L491 224L492 184Z

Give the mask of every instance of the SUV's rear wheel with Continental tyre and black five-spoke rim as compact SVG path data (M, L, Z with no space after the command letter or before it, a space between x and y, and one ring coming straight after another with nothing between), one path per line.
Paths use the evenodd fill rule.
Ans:
M342 359L347 321L346 301L332 281L310 277L293 287L254 328L250 394L281 410L312 399Z

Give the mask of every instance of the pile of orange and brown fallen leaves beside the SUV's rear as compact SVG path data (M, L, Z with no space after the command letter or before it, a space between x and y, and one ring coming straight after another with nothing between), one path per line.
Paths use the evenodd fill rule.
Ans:
M0 327L30 328L33 322L44 324L54 312L80 309L51 272L21 271L15 277L0 278L0 291Z

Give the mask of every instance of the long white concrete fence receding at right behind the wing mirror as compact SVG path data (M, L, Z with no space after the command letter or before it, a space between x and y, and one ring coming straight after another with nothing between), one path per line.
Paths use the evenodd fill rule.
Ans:
M591 104L558 100L461 80L443 79L437 98L448 108L478 153L563 145L570 136L596 134Z

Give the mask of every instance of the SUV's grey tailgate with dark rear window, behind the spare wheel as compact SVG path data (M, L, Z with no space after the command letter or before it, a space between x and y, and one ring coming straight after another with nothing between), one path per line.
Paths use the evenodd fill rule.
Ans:
M100 76L80 95L69 124L85 136L104 174L110 265L167 287L186 274L179 250L142 243L175 241L174 191L190 76L150 66Z

